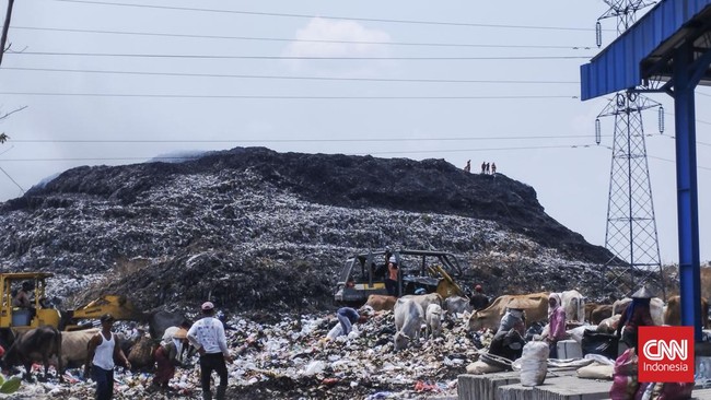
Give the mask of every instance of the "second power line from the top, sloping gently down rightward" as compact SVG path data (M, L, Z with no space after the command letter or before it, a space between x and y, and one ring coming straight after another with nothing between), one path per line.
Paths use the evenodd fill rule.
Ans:
M279 38L258 36L223 36L223 35L191 35L154 32L128 32L128 31L103 31L103 30L78 30L60 27L35 27L35 26L12 26L13 30L48 31L68 33L89 33L106 35L133 35L133 36L158 36L179 37L199 39L222 39L222 40L255 40L255 42L287 42L287 43L327 43L327 44L351 44L351 45L382 45L382 46L421 46L421 47L475 47L475 48L545 48L545 49L572 49L592 50L592 46L562 46L562 45L496 45L496 44L466 44L466 43L410 43L410 42L370 42L370 40L331 40L331 39L303 39L303 38Z

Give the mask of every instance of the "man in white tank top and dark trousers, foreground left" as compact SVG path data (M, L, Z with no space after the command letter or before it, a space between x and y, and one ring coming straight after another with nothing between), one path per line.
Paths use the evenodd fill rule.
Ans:
M114 396L114 360L120 360L128 369L131 368L131 363L120 346L116 345L116 336L112 333L114 317L104 314L98 320L102 330L89 340L84 376L89 377L91 369L91 377L96 383L96 400L110 400Z

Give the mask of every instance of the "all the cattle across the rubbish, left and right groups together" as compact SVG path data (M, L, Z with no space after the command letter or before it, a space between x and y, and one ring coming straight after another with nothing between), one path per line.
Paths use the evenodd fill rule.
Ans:
M602 332L611 332L616 329L621 313L631 302L630 298L623 298L609 305L596 305L586 303L585 297L578 291L562 292L561 299L568 321L597 325L597 331ZM469 299L466 297L451 296L442 298L436 293L406 295L400 298L371 295L366 305L375 311L394 310L396 327L394 348L398 351L407 348L410 342L420 340L420 331L423 325L427 327L426 339L436 338L442 333L442 321L446 318L456 320L456 316L468 318L466 323L471 331L496 330L506 307L513 304L514 301L516 302L515 308L524 309L527 326L534 322L547 321L548 293L504 295L496 298L487 308L478 310L471 308ZM706 299L701 299L701 309L704 328L707 328L709 319ZM666 304L661 298L653 298L651 314L656 325L679 325L679 296L671 297ZM137 349L142 344L147 344L149 348L145 353L152 354L150 349L154 349L163 332L170 327L179 326L184 322L189 323L190 321L180 314L159 311L148 320L150 338L128 340L119 334L119 343L127 355L133 353L133 351L130 351L131 346ZM62 379L61 372L65 367L79 366L85 362L89 340L97 332L98 329L96 328L60 332L53 327L39 327L16 338L5 351L0 364L3 369L14 365L24 365L27 377L30 377L31 366L35 362L44 364L45 375L49 365L56 365L59 372L58 376ZM141 363L130 361L135 366L144 366ZM152 365L152 360L150 364Z

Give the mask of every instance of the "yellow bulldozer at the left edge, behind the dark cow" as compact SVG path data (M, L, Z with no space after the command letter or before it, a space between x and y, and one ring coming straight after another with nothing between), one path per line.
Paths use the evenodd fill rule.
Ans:
M73 310L59 310L47 304L47 281L53 278L48 272L0 273L0 336L2 339L12 333L21 333L39 326L53 326L59 330L78 330L85 328L77 322L82 319L98 319L109 313L117 320L137 320L141 313L125 296L105 295ZM32 307L15 307L14 295L23 284L30 287Z

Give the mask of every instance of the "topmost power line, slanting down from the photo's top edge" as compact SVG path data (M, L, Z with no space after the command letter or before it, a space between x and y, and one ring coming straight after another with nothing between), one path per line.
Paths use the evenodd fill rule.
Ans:
M71 3L83 3L83 4L95 4L95 5L115 5L115 7L155 9L155 10L175 10L175 11L210 12L210 13L260 15L260 16L282 16L282 17L296 17L296 19L319 17L319 19L324 19L324 20L385 22L385 23L396 23L396 24L469 26L469 27L517 28L517 30L544 30L544 31L582 31L582 32L593 31L592 28L584 28L584 27L502 25L502 24L500 25L500 24L477 24L477 23L447 22L447 21L416 21L416 20L389 20L389 19L369 19L369 17L353 17L353 16L335 16L335 15L308 15L308 14L295 14L295 13L276 13L276 12L238 11L238 10L221 10L221 9L199 9L199 8L188 8L188 7L172 7L172 5L168 7L168 5L153 5L153 4L135 4L135 3L113 3L113 2L108 2L108 1L90 1L90 0L55 0L55 1L71 2Z

